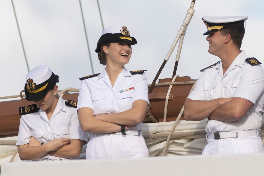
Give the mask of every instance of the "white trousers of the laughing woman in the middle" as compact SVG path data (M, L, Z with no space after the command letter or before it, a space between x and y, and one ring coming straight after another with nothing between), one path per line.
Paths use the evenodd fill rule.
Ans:
M86 159L118 159L148 157L143 136L116 134L91 136L87 144Z

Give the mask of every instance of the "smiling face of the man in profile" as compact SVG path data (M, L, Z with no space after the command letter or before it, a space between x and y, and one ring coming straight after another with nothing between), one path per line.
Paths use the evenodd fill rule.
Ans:
M210 34L206 37L206 40L209 42L208 52L215 56L220 56L223 53L224 49L224 40L225 36L220 34L220 30L210 32Z

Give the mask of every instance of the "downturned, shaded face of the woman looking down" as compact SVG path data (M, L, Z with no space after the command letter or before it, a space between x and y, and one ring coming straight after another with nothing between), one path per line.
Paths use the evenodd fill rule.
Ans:
M55 100L54 94L57 93L57 89L58 89L58 86L55 85L54 88L50 90L49 92L47 92L43 98L41 98L40 100L34 101L34 102L37 104L37 106L41 110L43 111L47 110L49 107L51 107L51 105L53 104Z

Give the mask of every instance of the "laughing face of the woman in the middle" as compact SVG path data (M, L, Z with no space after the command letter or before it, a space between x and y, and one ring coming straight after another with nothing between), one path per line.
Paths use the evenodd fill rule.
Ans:
M132 54L131 44L129 42L113 42L109 47L105 47L106 64L118 64L124 66L129 62L129 59Z

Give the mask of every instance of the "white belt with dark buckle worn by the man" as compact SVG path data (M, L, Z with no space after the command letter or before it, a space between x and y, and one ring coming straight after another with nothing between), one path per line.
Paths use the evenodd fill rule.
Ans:
M248 136L259 136L257 130L252 131L228 131L228 132L215 132L208 133L206 139L221 139L221 138L237 138L237 137L248 137Z

